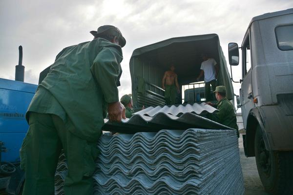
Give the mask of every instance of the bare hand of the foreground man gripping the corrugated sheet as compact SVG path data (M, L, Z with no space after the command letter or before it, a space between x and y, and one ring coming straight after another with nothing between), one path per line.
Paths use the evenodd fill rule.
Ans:
M126 118L124 105L122 105L120 101L109 103L108 115L110 121L121 122L122 118Z

